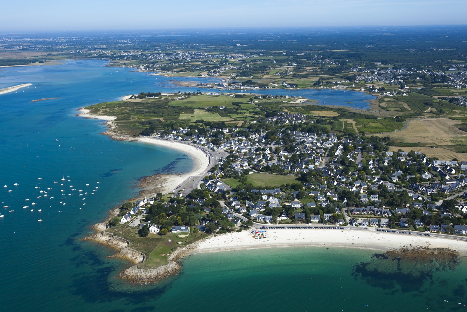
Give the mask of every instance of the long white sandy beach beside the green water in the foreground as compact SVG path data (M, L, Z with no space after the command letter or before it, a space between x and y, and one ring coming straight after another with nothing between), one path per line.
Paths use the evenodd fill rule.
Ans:
M394 234L377 231L336 229L268 229L266 239L252 238L250 231L217 235L202 241L195 253L235 249L316 246L343 247L387 251L412 246L430 246L457 250L467 255L467 242L450 238Z

